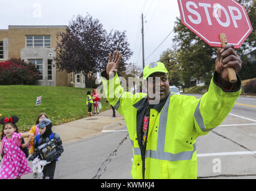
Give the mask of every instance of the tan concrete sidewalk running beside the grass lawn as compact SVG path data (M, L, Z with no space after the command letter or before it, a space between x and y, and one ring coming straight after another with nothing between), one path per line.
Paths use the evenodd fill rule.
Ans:
M101 112L99 115L68 122L67 124L52 127L54 133L61 136L62 143L70 143L83 138L91 138L102 130L117 130L125 126L124 116L116 110L116 118L112 118L112 109Z

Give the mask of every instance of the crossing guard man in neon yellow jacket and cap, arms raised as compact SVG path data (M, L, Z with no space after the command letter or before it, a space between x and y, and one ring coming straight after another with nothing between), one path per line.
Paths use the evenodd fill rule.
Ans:
M132 178L197 178L195 140L220 125L239 97L239 76L231 84L226 68L238 73L240 57L232 45L218 48L216 71L200 99L171 94L168 71L159 62L143 69L147 94L125 92L117 75L121 57L119 51L109 54L101 79L109 103L125 118L134 155Z

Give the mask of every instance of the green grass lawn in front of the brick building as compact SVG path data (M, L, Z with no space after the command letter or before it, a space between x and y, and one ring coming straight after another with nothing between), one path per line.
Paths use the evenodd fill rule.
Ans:
M88 116L88 107L86 107L86 93L88 90L91 90L92 93L93 89L0 85L0 113L2 117L18 116L17 126L20 131L28 131L35 124L37 116L42 112L49 116L53 125L63 124ZM42 103L35 106L35 101L39 96L42 96ZM106 103L106 98L101 98L101 104L103 106L101 112L111 109L109 103Z

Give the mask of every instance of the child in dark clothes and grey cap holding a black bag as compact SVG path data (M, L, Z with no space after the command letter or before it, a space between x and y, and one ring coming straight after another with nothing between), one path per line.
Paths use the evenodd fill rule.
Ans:
M59 134L52 132L52 121L50 121L50 119L43 119L37 127L39 128L39 134L34 137L34 153L28 158L28 160L32 161L38 156L40 160L46 160L47 162L50 162L44 166L43 178L53 179L56 161L59 156L61 156L61 153L64 152L62 140ZM47 158L42 158L40 155L40 149L38 149L38 147L44 143L48 143L52 139L54 139L57 144L56 152Z

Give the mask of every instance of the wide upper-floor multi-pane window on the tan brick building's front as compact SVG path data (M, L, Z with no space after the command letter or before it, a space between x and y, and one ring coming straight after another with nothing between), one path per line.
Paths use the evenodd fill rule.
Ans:
M51 39L50 36L26 36L27 48L50 48Z

